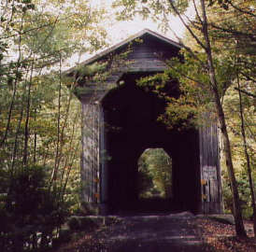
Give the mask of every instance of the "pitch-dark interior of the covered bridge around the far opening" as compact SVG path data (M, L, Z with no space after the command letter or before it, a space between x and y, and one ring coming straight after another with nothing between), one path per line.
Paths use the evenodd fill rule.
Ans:
M148 74L149 75L149 74ZM168 130L157 121L165 101L137 87L143 74L124 75L123 85L109 91L102 105L105 117L107 205L109 213L125 211L197 212L200 196L199 141L197 130ZM173 86L172 86L173 85ZM168 94L178 95L178 85ZM141 200L138 197L138 159L147 148L164 148L172 157L173 197Z

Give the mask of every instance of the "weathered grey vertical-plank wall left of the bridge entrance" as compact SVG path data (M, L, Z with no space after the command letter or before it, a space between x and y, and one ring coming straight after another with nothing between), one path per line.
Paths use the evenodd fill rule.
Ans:
M100 104L82 103L81 201L86 212L107 212L104 113Z

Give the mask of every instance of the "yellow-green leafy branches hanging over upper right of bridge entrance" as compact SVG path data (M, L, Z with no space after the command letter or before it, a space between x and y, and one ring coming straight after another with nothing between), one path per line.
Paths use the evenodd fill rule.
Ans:
M184 51L184 63L173 58L168 64L170 68L164 74L144 77L138 80L138 86L145 91L152 91L165 99L166 107L159 120L169 129L190 129L200 124L200 115L212 107L212 97L208 78L201 72L202 66ZM178 84L177 84L178 83ZM178 85L179 95L169 97L166 87Z

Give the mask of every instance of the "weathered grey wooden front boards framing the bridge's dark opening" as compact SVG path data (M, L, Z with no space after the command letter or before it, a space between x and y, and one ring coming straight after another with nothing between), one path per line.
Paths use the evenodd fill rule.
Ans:
M107 79L101 83L85 82L85 78L82 79L82 77L80 77L79 80L80 92L77 93L77 95L82 103L83 116L81 154L81 180L83 182L83 189L81 198L84 202L90 204L92 209L98 209L102 214L107 213L107 203L110 201L109 199L112 195L112 188L110 187L112 185L111 182L117 183L117 181L111 181L111 177L108 177L113 175L109 171L111 170L110 168L116 164L113 161L111 164L112 166L109 165L108 171L106 149L107 147L109 148L111 139L107 139L106 137L105 115L101 103L103 103L104 98L107 97L108 91L120 85L120 80L123 81L125 75L129 75L131 77L133 75L135 76L134 73L138 72L141 76L145 76L145 73L147 73L147 75L151 75L152 73L163 72L167 68L164 60L170 59L173 56L178 56L178 50L180 49L178 44L150 32L141 33L140 35L135 36L134 39L135 38L142 38L143 41L137 43L133 41L133 39L128 39L117 47L107 50L100 56L93 57L91 60L85 63L94 63L96 61L102 62L112 59L112 63L110 62L109 64L111 69L109 70L109 76ZM132 42L131 45L128 42ZM127 59L125 59L126 63L117 63L115 60L113 60L115 58L113 57L115 56L114 54L118 55L119 53L125 51L125 49L128 49L130 46L132 46L132 50L128 54ZM72 75L72 70L69 71L68 75ZM135 79L132 81L135 81ZM132 101L133 97L130 98ZM121 103L122 100L118 105L121 105ZM147 109L148 108L144 109L145 113L140 113L137 115L133 113L133 117L131 117L131 119L135 122L135 117L137 116L139 117L140 121L141 117L143 117L141 115L147 115ZM209 122L208 115L205 116L205 123L203 123L202 127L199 129L200 178L202 195L202 203L200 208L205 214L218 214L221 213L221 180L219 163L220 150L218 146L218 129L216 121ZM195 185L192 186L198 186L195 190L196 193L198 192L196 194L196 203L198 206L198 201L200 201L200 188L198 181L199 161L197 139L198 138L194 139L194 143L196 144L193 146L194 148L197 148L197 150L194 150L197 152L196 161L194 161L193 164L197 165L197 168L195 169L196 175L192 177L192 179L195 179L196 182L194 182ZM121 141L120 138L116 140ZM156 141L158 140L159 139ZM107 141L109 142L107 143ZM119 156L119 149L114 153L115 155ZM121 167L128 167L129 165L127 163L133 159L134 156L127 159L125 163L121 163L120 161L119 164L121 164ZM183 157L180 158L179 153L177 153L177 159L179 159L177 162L179 165L182 166L184 163L184 167L186 165L188 166L189 163L186 161L183 162ZM179 169L179 167L177 167L177 169ZM127 171L123 171L123 173L120 171L118 172L121 177L123 175L125 176ZM177 188L179 189L180 193L181 188ZM121 187L118 189L121 189ZM183 189L183 191L186 192L186 189ZM125 197L126 192L127 191L124 191L123 197ZM185 196L184 199L189 201L189 199L187 199Z

